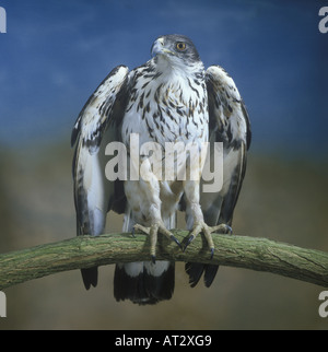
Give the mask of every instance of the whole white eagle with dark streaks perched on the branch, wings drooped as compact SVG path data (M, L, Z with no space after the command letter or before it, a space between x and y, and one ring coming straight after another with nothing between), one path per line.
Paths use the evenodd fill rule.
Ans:
M134 228L150 237L149 261L117 263L114 295L117 301L154 304L169 300L174 291L174 262L155 260L157 236L181 244L171 232L176 227L177 210L185 211L190 234L187 245L202 234L214 251L212 233L230 233L232 218L246 168L250 144L250 125L244 102L233 79L220 67L207 70L192 42L184 35L160 36L152 45L152 58L129 70L118 66L99 84L81 110L71 143L73 159L74 204L78 235L97 236L104 232L106 214L124 213L124 232ZM214 192L203 192L204 180L159 177L151 167L150 178L129 177L134 145L154 142L164 149L167 142L223 143L223 183ZM120 142L127 150L127 179L107 179L106 145ZM213 161L213 149L208 150ZM142 154L142 153L141 153ZM162 154L165 162L166 154ZM174 159L176 169L177 156ZM137 168L147 164L149 154L140 155ZM190 155L186 175L201 175L202 163ZM187 262L189 283L204 278L210 286L218 266ZM84 285L97 284L97 268L82 269Z

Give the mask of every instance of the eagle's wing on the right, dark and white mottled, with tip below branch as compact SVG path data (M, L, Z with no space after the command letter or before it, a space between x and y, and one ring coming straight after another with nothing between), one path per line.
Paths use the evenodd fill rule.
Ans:
M209 101L209 139L211 165L214 162L214 142L223 142L223 186L218 192L201 192L200 206L204 222L210 226L231 226L246 171L246 152L251 132L248 114L233 79L219 66L206 72ZM201 190L206 183L201 179ZM189 282L195 286L202 273L210 286L218 266L186 263Z

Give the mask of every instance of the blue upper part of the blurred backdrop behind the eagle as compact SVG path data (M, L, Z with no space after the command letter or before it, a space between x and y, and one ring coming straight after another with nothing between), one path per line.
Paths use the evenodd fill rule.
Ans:
M325 1L8 0L0 34L0 145L67 141L85 101L117 64L150 59L179 33L206 67L224 67L248 107L253 149L327 155ZM327 5L327 2L326 2Z

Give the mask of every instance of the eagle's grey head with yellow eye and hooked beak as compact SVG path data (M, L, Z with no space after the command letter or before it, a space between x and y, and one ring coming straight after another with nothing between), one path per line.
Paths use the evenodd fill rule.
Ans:
M160 36L152 45L155 63L168 63L173 68L186 69L201 63L194 43L185 35Z

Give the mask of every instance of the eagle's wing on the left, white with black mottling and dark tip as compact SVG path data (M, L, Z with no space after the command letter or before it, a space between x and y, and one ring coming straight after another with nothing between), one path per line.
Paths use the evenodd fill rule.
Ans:
M91 95L74 125L73 159L77 234L103 233L106 214L124 197L122 188L105 176L105 148L119 140L119 124L127 101L128 68L115 68ZM96 268L82 269L85 288L96 285Z

